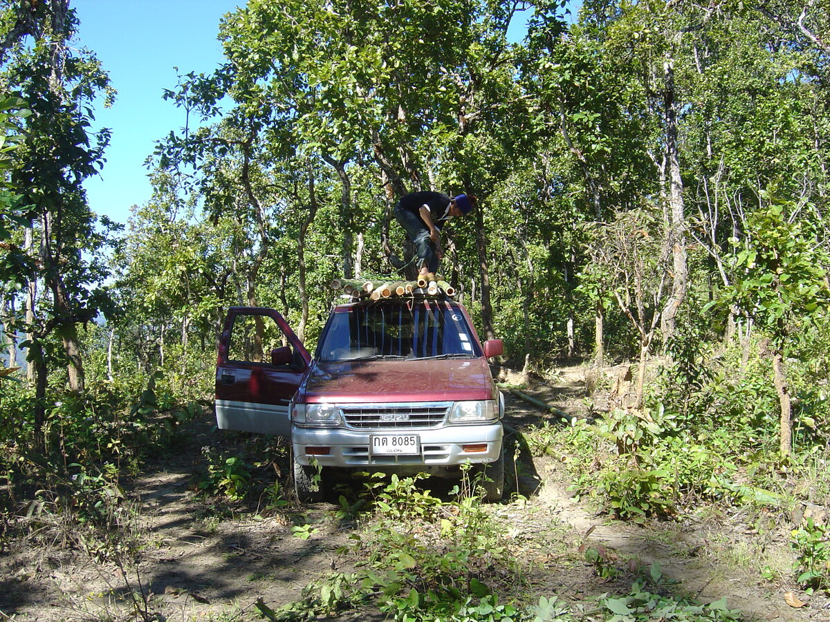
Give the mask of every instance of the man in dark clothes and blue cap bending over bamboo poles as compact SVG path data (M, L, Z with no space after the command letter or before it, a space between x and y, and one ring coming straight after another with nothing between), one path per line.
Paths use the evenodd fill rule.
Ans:
M444 256L441 245L444 223L470 213L473 207L476 207L476 196L472 194L448 197L441 192L425 191L410 192L401 197L395 206L395 220L415 245L419 275L434 275L438 270L438 260Z

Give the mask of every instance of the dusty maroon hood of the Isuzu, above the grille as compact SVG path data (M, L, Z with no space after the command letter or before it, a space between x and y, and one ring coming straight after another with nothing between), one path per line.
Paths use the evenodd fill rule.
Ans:
M492 400L490 367L480 358L314 362L300 386L305 403Z

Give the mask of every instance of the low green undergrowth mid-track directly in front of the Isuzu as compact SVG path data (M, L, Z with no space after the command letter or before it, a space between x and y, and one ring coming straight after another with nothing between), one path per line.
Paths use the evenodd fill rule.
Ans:
M260 614L272 622L369 609L396 622L737 620L723 602L700 605L662 595L659 566L634 581L630 593L602 595L588 605L540 594L530 583L532 564L515 556L497 515L469 494L474 484L465 479L455 499L442 501L420 488L420 479L373 477L359 494L365 503L341 498L341 513L363 508L357 516L362 528L341 551L353 557L355 570L313 581L300 600L277 609L259 600ZM596 568L608 563L583 554Z

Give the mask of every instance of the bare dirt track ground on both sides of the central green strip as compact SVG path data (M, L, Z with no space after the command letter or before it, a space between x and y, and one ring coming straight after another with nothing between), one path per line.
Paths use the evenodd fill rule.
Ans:
M526 392L578 415L583 411L586 368L559 370L554 381L531 381ZM515 378L504 377L505 381ZM506 423L516 430L559 417L508 396ZM199 497L203 478L202 447L222 444L210 415L195 423L196 434L173 455L145 465L145 472L125 485L139 515L139 553L125 556L123 570L95 561L94 551L61 546L32 546L32 537L6 543L0 553L0 621L130 619L125 595L143 587L156 620L256 620L257 600L272 609L296 600L310 581L332 570L349 571L349 557L338 548L358 529L334 516L334 505L296 508L311 522L312 535L297 537L289 512L234 513ZM761 532L748 517L726 510L708 518L646 527L610 521L574 500L562 465L535 459L519 479L526 501L492 505L503 519L515 556L532 562L535 595L558 595L571 603L603 593L627 594L637 568L658 562L666 590L691 594L702 602L726 598L730 609L747 620L830 620L830 601L805 595L791 577L779 583L760 576L759 555L792 564L792 523L772 521ZM440 486L433 487L436 490ZM752 521L757 526L757 520ZM779 524L780 523L780 524ZM563 554L581 546L602 552L612 566L628 569L612 579L597 576L588 563ZM128 587L125 578L129 581ZM672 583L671 581L676 581ZM803 606L788 604L792 593ZM533 600L536 600L534 595ZM529 597L530 600L530 597ZM793 604L798 604L792 601ZM135 619L135 616L132 617ZM339 620L382 620L371 611L353 611Z

